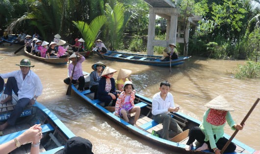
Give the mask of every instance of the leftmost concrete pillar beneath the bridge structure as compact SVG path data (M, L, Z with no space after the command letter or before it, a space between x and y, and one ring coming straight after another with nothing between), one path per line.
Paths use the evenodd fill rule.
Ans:
M147 54L154 55L153 41L155 40L155 27L156 27L156 13L155 9L149 9L149 26L148 26L148 39L147 39Z

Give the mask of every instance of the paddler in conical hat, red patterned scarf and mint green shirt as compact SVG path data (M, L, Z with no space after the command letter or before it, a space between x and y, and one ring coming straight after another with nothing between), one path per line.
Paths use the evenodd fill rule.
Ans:
M201 125L189 130L189 140L185 149L191 150L196 139L201 146L195 151L209 150L211 153L220 154L221 149L228 142L228 139L223 136L226 122L232 130L242 130L243 126L235 124L230 114L234 109L223 96L214 98L205 107L209 109L204 113ZM235 149L235 144L230 143L224 153L233 153Z

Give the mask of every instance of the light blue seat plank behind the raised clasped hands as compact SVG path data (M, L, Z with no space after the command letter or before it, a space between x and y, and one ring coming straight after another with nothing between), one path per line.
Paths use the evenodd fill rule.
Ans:
M43 134L46 133L46 132L54 131L54 128L52 127L51 124L41 125L41 128L42 128ZM19 131L19 132L13 132L13 133L10 133L10 134L7 134L7 135L0 136L0 144L3 144L5 142L8 142L8 141L18 137L19 135L21 135L26 130Z

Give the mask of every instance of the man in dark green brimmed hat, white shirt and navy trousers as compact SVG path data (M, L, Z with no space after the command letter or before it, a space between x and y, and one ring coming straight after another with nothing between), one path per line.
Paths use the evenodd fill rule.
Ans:
M10 117L7 121L0 125L0 131L4 130L8 125L15 125L17 118L20 117L24 108L30 104L34 105L36 99L42 94L43 86L40 78L30 70L30 60L22 59L20 64L21 70L12 71L9 73L0 74L0 78L8 78L4 90L4 94L8 95L0 103L6 103L12 100L12 91L18 96L17 105L14 107Z

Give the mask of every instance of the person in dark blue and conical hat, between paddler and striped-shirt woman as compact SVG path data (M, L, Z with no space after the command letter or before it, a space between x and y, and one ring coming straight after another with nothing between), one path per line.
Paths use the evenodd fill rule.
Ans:
M97 99L97 93L99 88L99 81L101 79L101 74L105 68L102 62L97 62L92 65L93 71L90 73L90 83L89 89L94 92L94 99Z

